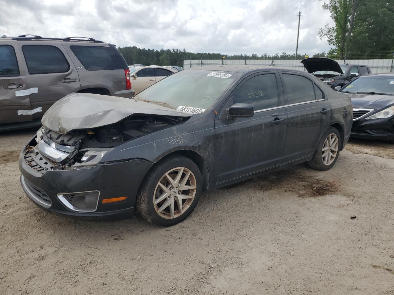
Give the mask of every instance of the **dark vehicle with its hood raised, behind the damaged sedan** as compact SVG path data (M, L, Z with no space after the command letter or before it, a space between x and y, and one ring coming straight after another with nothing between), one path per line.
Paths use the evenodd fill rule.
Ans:
M351 80L370 74L371 69L365 65L339 65L333 59L327 57L309 57L303 59L301 63L308 73L318 77L332 89L343 87Z

